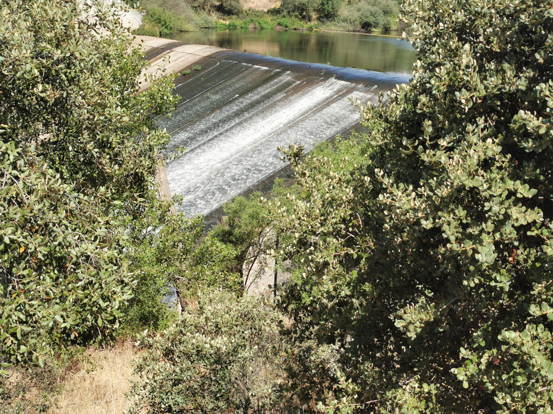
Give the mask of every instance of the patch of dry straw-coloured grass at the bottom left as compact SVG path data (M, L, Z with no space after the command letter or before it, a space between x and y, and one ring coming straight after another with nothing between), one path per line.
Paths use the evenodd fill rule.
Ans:
M129 406L125 393L131 387L131 360L137 355L132 344L89 350L86 355L95 368L88 371L80 364L80 369L66 375L63 391L48 414L121 414Z

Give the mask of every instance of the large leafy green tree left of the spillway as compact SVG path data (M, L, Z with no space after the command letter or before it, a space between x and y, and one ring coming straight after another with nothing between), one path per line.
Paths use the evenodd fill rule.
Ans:
M154 197L155 116L171 80L139 91L142 54L110 7L0 6L0 363L108 333L132 296L124 225Z

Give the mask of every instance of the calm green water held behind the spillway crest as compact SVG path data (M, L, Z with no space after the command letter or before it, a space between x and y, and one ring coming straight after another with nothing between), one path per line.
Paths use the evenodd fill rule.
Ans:
M416 60L415 50L405 40L361 33L201 30L178 33L174 39L306 63L378 72L411 73Z

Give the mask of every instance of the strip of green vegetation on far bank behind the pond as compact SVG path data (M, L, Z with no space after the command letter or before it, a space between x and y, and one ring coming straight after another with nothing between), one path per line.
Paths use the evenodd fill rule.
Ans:
M244 9L237 0L222 2L146 0L136 34L171 37L202 28L218 30L328 29L388 32L401 29L397 0L284 0L267 11Z

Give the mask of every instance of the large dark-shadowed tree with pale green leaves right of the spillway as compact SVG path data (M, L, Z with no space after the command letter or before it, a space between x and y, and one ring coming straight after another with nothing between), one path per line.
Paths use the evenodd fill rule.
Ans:
M362 106L368 167L287 152L312 195L280 214L283 306L338 361L319 410L552 409L552 7L407 1L419 60Z

